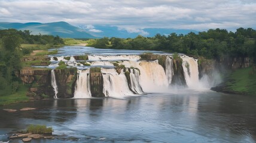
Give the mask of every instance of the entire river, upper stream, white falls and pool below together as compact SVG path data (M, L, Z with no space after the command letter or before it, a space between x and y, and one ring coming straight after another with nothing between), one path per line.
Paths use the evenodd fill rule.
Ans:
M8 141L12 133L31 124L51 126L55 138L33 139L32 142L256 142L256 97L209 90L210 86L199 80L197 61L185 55L182 55L186 62L182 63L182 67L185 69L187 88L170 87L173 65L168 62L172 60L167 58L170 60L166 62L168 72L164 72L155 61L139 61L139 54L143 52L83 46L60 48L58 54L51 55L52 58L59 56L58 61L52 60L49 67L54 69L59 59L63 60L65 56L89 54L87 62L92 67L103 66L103 91L109 97L86 95L89 89L82 90L82 87L80 90L83 82L78 80L76 90L82 94L74 98L0 107L0 142ZM124 73L117 74L113 70L113 60L127 67L138 67L137 76L133 69L132 88L128 88ZM89 75L87 70L90 66L78 66L74 60L65 62L79 67L81 78ZM55 80L52 77L51 80ZM137 94L134 94L135 91ZM37 109L19 111L23 107ZM18 111L8 113L2 110L4 108ZM10 142L22 141L16 139Z

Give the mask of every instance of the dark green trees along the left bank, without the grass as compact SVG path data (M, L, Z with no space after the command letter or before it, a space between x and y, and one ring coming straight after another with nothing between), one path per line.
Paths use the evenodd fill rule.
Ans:
M22 68L20 58L27 54L21 43L63 44L59 36L31 35L28 30L0 30L0 95L11 94L19 88L15 71Z

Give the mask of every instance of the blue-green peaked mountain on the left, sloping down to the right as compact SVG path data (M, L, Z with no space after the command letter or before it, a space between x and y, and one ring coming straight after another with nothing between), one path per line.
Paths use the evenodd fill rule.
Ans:
M61 38L96 38L84 29L66 22L54 23L1 23L0 29L30 30L33 35L59 35Z

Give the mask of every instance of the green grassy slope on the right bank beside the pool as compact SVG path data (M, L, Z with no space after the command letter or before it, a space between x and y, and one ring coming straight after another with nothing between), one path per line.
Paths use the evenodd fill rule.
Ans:
M228 76L228 89L249 95L256 95L256 71L252 67L237 69Z

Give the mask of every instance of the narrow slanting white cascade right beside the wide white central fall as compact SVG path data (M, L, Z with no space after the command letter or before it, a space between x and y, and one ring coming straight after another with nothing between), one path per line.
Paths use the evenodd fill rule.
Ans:
M139 85L139 70L130 69L130 89L136 94L144 94L141 85Z

